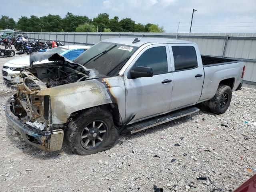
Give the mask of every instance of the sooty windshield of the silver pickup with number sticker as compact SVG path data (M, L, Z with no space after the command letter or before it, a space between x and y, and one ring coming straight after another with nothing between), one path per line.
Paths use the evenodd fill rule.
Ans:
M134 46L100 42L78 56L74 62L96 69L100 74L114 76L137 49Z

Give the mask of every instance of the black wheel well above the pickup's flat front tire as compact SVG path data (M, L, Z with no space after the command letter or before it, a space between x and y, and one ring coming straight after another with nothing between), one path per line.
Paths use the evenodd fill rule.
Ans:
M119 127L120 125L123 124L122 117L120 116L118 105L116 103L109 103L109 104L99 105L99 106L95 106L95 107L100 107L100 108L103 108L105 110L108 110L113 116L113 121L114 121L115 126ZM91 107L91 108L93 108L93 107ZM70 115L70 118L74 118L78 114L80 114L80 113L82 113L82 112L84 112L88 109L91 109L91 108L82 109L82 110L73 112Z

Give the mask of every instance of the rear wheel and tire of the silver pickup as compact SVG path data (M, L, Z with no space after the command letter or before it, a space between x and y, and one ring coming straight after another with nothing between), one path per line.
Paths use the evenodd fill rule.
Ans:
M216 114L223 114L228 109L232 98L230 86L220 84L215 96L208 101L210 111Z

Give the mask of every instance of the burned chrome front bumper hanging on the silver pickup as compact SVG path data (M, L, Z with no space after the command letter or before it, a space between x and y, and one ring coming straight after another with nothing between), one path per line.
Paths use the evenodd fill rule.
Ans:
M62 129L41 131L33 128L12 113L11 107L13 107L13 102L14 97L9 98L6 102L6 119L13 128L21 134L22 138L28 144L31 144L43 151L57 151L62 148L62 141L64 137L64 131Z

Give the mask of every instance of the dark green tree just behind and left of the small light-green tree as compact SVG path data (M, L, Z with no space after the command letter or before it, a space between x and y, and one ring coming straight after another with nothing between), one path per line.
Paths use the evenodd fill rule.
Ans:
M78 25L91 22L92 20L90 20L87 16L77 16L68 12L62 19L62 28L65 32L74 32Z

